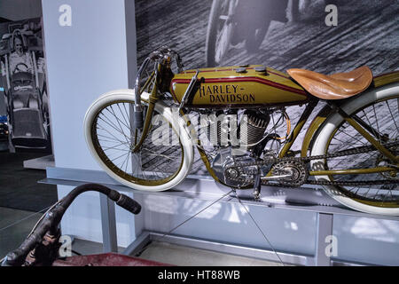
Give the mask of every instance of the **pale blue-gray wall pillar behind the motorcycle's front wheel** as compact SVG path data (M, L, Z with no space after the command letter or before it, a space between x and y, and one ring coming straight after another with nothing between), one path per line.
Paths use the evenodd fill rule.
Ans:
M70 27L59 25L61 4L72 8ZM99 170L86 146L82 123L101 94L129 86L124 0L43 0L43 30L56 166ZM72 188L59 186L59 198ZM119 241L127 245L135 238L134 222L127 211L119 210ZM82 194L63 218L63 233L101 241L99 212L98 194Z

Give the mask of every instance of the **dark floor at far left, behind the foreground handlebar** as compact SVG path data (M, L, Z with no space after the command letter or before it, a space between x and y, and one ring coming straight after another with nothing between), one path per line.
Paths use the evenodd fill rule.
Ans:
M43 153L0 152L0 258L18 248L46 208L57 201L55 185L39 185L44 170L27 170L23 162Z

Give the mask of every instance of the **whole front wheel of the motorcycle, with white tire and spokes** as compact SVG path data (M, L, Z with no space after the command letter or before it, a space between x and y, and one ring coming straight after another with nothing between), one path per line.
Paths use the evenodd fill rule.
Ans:
M142 99L145 97L144 93ZM181 118L156 103L142 146L134 125L134 91L111 91L86 113L84 134L90 153L106 173L134 189L162 191L183 181L192 166L193 149ZM144 115L148 105L144 100Z

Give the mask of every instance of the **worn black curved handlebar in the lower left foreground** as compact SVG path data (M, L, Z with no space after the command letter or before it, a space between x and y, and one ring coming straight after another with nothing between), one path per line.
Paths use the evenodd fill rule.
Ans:
M106 196L115 201L121 208L128 210L133 214L138 214L141 210L141 205L129 198L129 196L118 193L104 185L85 184L79 185L68 193L62 200L58 201L55 206L50 209L43 220L37 225L33 233L27 236L20 248L15 249L4 257L2 266L20 266L24 264L27 254L34 249L39 243L43 241L44 235L54 235L58 232L59 222L63 217L66 209L74 201L74 199L81 193L88 191L97 191L106 194Z

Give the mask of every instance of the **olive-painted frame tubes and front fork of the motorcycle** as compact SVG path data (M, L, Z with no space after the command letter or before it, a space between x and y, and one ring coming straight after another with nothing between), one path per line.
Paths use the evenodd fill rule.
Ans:
M168 62L170 63L170 61ZM148 110L145 115L145 122L144 122L144 127L143 127L143 133L142 137L140 138L140 141L137 143L137 145L134 147L132 152L137 152L140 148L140 146L143 144L147 134L148 130L150 130L150 124L151 120L153 117L153 109L154 106L159 99L159 89L158 85L161 80L165 79L161 77L161 67L162 64L158 62L156 64L156 69L153 72L152 75L147 79L145 82L145 86L148 86L151 83L151 80L154 80L153 84L153 90L150 94L150 97L146 102L148 103ZM137 78L139 77L139 74L137 75ZM153 79L153 76L155 78ZM373 87L379 87L386 85L388 83L395 83L399 82L399 72L395 73L395 75L392 74L387 74L387 75L381 75L378 78L375 78L374 80L374 86ZM135 87L136 90L138 90L137 86ZM145 89L145 88L142 88ZM137 94L137 93L136 93ZM136 95L137 96L137 95ZM291 134L289 137L286 139L285 145L281 148L280 152L278 153L278 158L284 158L286 157L286 154L291 150L291 146L293 146L293 143L296 141L296 138L298 138L299 134L301 133L303 126L305 123L309 120L310 114L312 114L313 110L319 103L320 99L317 99L316 97L312 97L312 99L309 99L307 102L307 106L305 107L305 110L301 114L301 117L299 121L296 123L295 127L291 131ZM345 102L345 101L344 101ZM343 103L344 103L343 102ZM287 104L289 105L289 104ZM229 107L225 107L225 109L230 109ZM180 114L184 118L185 124L189 127L190 126L190 121L187 120L186 114L184 112L184 107L180 107L179 109ZM367 130L364 130L364 127L361 125L361 123L357 122L356 119L351 117L349 114L346 114L343 109L340 107L340 104L337 103L332 103L332 101L328 101L327 105L319 111L315 119L310 123L309 128L305 134L305 138L302 141L301 145L301 157L309 157L308 156L308 151L311 148L313 144L313 140L315 137L317 137L317 131L320 130L323 126L323 123L327 119L327 117L331 114L334 114L337 112L342 116L345 122L348 122L357 132L359 132L364 138L366 138L372 146L377 148L380 152L380 154L383 154L386 156L389 160L392 162L399 162L399 156L395 156L395 154L392 154L385 146L382 146L376 139L372 138L372 135L370 135ZM335 133L335 132L334 132ZM332 134L333 137L333 134ZM329 138L329 143L332 140L332 137ZM200 141L198 141L200 143ZM200 158L202 162L204 162L208 173L211 175L211 177L215 178L215 180L221 184L224 185L223 181L221 181L218 177L216 177L214 170L212 169L211 162L207 159L207 154L205 151L201 148L201 146L198 144L197 145L197 150L199 151ZM325 153L326 154L326 153ZM372 174L372 173L380 173L380 172L387 172L387 171L395 171L397 169L392 168L392 167L375 167L372 169L347 169L347 170L309 170L309 176L333 176L333 175L353 175L353 174ZM267 174L267 176L270 176L271 170ZM247 185L247 188L251 188L251 185ZM242 187L242 188L246 188Z

